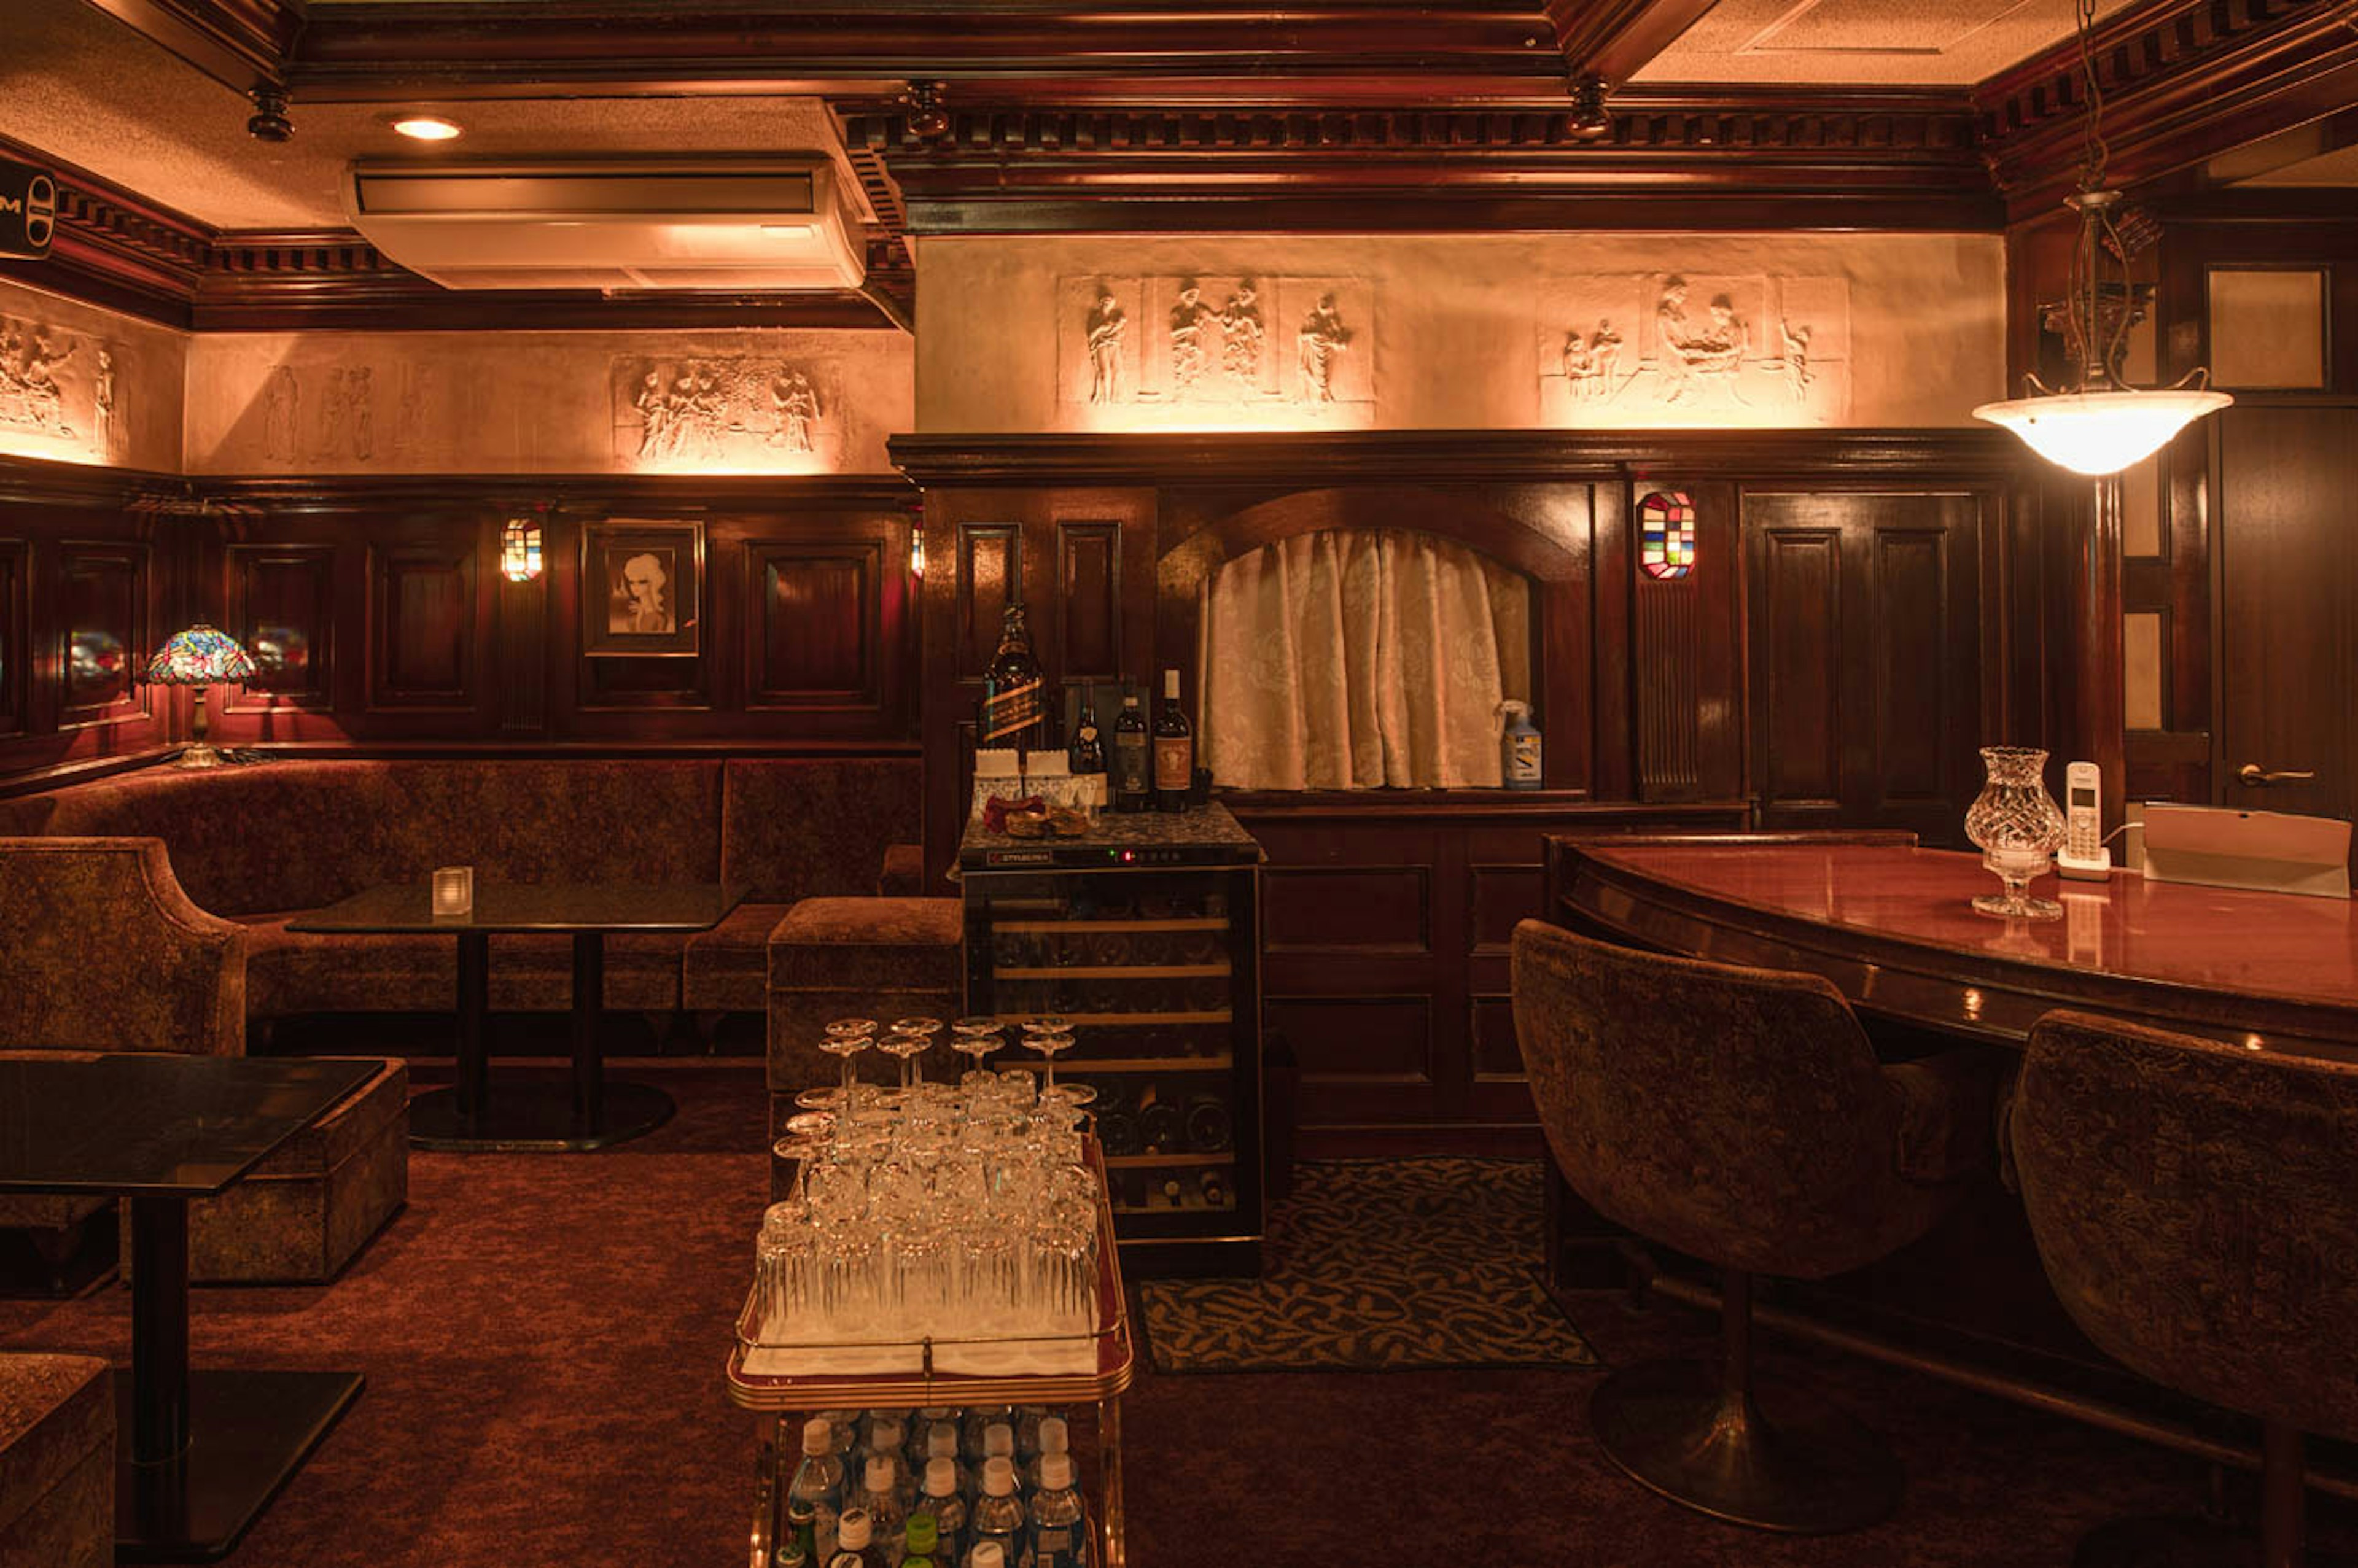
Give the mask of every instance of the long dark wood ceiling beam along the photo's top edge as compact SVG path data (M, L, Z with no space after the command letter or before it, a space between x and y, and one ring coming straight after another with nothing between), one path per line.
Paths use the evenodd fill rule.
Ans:
M582 14L542 5L318 5L288 66L299 99L514 85L608 92L785 83L1063 83L1092 92L1424 97L1460 85L1561 97L1537 0L1273 9L1054 2ZM1184 85L1181 85L1184 83Z

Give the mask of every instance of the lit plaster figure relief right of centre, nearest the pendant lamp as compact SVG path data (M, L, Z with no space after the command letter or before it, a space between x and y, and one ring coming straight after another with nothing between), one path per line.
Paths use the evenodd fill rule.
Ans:
M1636 351L1618 323L1644 328ZM1594 325L1592 325L1594 323ZM1849 413L1844 278L1566 278L1540 316L1554 424L1832 424Z

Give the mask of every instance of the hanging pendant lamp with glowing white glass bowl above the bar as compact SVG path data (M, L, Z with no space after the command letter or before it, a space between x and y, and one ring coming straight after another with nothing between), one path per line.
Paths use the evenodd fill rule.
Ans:
M2172 436L2235 398L2209 389L2209 370L2195 365L2165 391L2134 391L2120 380L2129 328L2146 316L2150 285L2129 281L2129 257L2150 243L2150 231L2127 219L2120 191L2103 186L2103 94L2096 87L2096 5L2075 0L2080 19L2080 75L2087 83L2087 130L2082 134L2080 189L2063 205L2080 215L2080 243L2070 257L2070 295L2047 307L2049 325L2063 330L2073 380L2049 389L2026 375L2030 396L1983 403L1976 420L2011 429L2040 457L2075 474L2103 476L2150 457ZM2103 276L2106 255L2120 262L2120 278ZM2056 321L2061 316L2061 321Z

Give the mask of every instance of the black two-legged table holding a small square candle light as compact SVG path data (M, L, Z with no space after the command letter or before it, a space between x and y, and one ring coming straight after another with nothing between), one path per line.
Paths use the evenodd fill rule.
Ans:
M710 931L738 894L710 882L479 882L469 915L436 915L429 887L394 882L330 903L290 931L457 936L457 1085L410 1101L420 1148L582 1151L606 1148L672 1120L672 1096L606 1082L597 1028L606 1009L611 931ZM516 1080L490 1092L490 938L495 931L573 936L573 1078Z

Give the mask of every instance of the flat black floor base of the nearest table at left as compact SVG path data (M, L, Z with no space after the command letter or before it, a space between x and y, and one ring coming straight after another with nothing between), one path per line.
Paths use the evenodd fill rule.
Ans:
M116 1372L116 1561L226 1556L358 1396L358 1372L189 1372L189 1448L134 1464L132 1375Z

